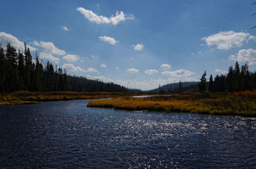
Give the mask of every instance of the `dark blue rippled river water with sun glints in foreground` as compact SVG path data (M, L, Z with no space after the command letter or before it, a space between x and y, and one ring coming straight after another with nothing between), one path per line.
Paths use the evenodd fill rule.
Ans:
M87 108L0 107L0 168L253 168L256 119Z

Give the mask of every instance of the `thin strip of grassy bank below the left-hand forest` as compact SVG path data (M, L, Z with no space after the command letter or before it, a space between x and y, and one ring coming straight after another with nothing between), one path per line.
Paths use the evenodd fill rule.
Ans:
M28 92L0 93L0 105L20 105L42 101L63 101L71 99L100 99L131 96L122 92Z

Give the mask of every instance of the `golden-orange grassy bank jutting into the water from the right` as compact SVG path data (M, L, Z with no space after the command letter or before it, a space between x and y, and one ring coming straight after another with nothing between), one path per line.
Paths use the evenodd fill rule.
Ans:
M189 112L211 115L256 116L256 91L217 94L173 94L152 98L93 100L88 107L159 112Z

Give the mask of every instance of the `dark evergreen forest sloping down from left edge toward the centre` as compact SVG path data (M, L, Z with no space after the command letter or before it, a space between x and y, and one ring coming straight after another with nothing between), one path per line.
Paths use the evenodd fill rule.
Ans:
M72 77L67 71L47 61L39 61L35 52L33 59L26 43L24 52L7 43L6 50L0 43L0 92L14 91L77 91L77 92L140 92L124 86L89 80L85 77Z

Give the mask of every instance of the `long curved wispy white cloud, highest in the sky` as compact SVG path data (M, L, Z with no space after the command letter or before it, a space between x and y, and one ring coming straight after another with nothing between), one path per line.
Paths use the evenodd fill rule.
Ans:
M90 22L95 22L97 24L113 24L116 25L121 21L127 20L127 19L133 19L134 17L132 15L125 15L123 11L116 11L115 17L112 15L110 18L104 17L104 16L98 16L97 14L93 13L91 10L86 10L82 7L79 7L76 9L80 13L84 15L84 18L87 18Z

